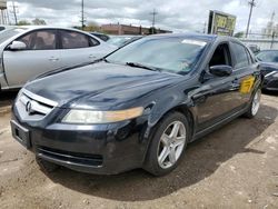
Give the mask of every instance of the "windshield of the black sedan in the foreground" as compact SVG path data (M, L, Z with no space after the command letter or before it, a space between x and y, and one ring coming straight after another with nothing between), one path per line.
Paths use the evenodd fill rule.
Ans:
M207 42L185 38L142 38L107 57L110 62L140 63L161 71L189 72Z

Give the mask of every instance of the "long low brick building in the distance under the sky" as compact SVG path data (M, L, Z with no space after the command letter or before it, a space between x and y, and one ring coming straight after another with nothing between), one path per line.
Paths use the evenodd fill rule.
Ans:
M128 26L128 24L102 24L101 31L109 34L150 34L152 33L151 28ZM171 33L169 30L155 29L155 33Z

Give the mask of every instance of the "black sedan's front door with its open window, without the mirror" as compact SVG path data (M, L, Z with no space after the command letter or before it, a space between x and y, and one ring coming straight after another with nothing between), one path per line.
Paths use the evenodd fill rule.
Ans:
M237 109L238 87L234 73L228 77L217 77L209 73L212 66L227 64L232 67L229 43L220 43L214 51L207 64L201 91L193 97L198 116L197 131L201 131L212 123L227 118Z

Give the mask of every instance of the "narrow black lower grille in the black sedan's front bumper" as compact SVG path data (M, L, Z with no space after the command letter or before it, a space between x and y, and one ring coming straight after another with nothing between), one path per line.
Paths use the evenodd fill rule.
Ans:
M38 156L48 160L75 166L101 167L103 159L100 155L62 151L46 147L38 147Z

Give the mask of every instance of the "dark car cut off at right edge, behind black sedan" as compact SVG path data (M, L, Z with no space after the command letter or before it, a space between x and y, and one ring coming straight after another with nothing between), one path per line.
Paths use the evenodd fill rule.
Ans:
M278 91L278 50L262 50L256 57L265 76L262 89Z

